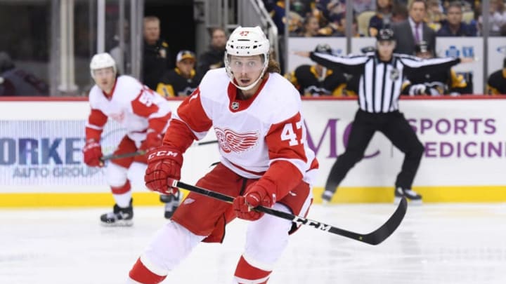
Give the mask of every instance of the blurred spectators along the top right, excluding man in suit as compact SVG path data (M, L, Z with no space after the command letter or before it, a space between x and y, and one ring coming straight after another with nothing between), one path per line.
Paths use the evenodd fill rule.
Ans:
M408 20L408 0L353 0L352 36L376 36L382 27ZM423 21L438 36L481 36L481 1L427 0ZM264 0L280 33L288 22L290 36L345 36L346 1L290 0L285 17L285 1ZM504 0L491 0L490 35L506 36ZM288 20L285 20L288 18Z

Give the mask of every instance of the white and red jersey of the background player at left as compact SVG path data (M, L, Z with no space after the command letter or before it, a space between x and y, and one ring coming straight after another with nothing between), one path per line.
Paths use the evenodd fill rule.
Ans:
M145 140L148 130L164 133L169 126L169 102L131 76L117 77L112 92L106 95L98 86L89 93L91 113L86 124L86 140L100 140L108 119L126 128L131 140Z

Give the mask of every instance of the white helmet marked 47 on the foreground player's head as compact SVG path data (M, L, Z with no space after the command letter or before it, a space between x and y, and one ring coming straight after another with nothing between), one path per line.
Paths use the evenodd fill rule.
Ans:
M264 72L267 69L270 48L271 44L269 43L266 35L259 26L235 28L226 43L225 58L223 59L225 61L226 72L228 74L228 77L230 77L231 82L241 90L249 90L253 88L258 83L258 81L260 81L262 76L264 76ZM264 68L262 69L259 78L256 81L254 81L254 83L246 87L240 87L237 84L235 84L229 62L229 57L231 55L235 56L264 55Z

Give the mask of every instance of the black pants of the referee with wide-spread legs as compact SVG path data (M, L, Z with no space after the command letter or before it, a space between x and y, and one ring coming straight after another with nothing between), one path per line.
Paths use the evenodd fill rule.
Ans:
M383 133L404 153L401 173L397 175L395 186L403 189L411 188L424 152L423 144L418 140L415 131L399 111L373 114L359 109L351 125L348 146L332 165L325 184L326 191L335 192L353 165L361 161L376 131Z

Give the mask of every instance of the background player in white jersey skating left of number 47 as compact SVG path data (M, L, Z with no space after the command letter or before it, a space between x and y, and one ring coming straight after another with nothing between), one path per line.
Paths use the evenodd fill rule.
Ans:
M91 88L91 112L86 123L84 163L102 167L100 135L108 119L114 119L126 128L114 154L148 151L162 143L162 133L169 126L169 102L131 76L118 76L116 62L108 53L94 55L90 63L91 76L96 85ZM100 216L103 224L130 226L134 217L131 185L126 173L132 163L146 163L145 155L111 160L105 169L116 204L113 211ZM174 195L179 196L179 193ZM162 198L161 198L162 199ZM174 200L174 198L172 198ZM164 198L162 201L167 201ZM175 200L175 204L179 204ZM166 217L174 212L174 204L166 203Z

